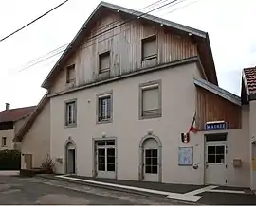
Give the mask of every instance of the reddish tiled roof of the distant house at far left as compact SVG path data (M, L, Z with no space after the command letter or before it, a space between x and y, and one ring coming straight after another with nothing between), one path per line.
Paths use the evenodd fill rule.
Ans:
M0 122L9 122L19 120L35 110L36 106L26 108L16 108L9 111L0 112Z

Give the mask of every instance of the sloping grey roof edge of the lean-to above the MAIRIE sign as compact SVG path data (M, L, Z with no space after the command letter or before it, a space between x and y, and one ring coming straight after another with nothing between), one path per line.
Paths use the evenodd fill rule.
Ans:
M241 98L238 95L231 94L227 90L224 90L224 89L222 89L222 88L220 88L202 78L194 77L193 82L196 86L202 87L205 90L208 90L210 93L217 94L217 95L229 100L230 102L241 106Z

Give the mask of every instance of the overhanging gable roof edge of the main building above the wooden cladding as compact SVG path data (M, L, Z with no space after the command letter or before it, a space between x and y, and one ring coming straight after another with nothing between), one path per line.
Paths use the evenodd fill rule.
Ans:
M200 31L198 29L189 27L189 26L183 26L165 19L161 19L158 17L155 17L150 14L145 14L133 9L127 9L123 7L119 7L117 5L113 5L110 3L102 2L98 5L98 7L92 12L92 14L89 16L89 18L86 20L86 22L83 24L77 35L74 37L74 39L69 43L69 45L66 47L64 50L64 53L62 54L61 58L56 62L46 79L44 80L42 87L48 89L52 80L54 77L57 77L59 74L60 70L62 69L62 66L65 62L65 60L68 60L68 58L74 54L74 52L78 49L80 46L80 43L84 39L85 35L90 34L91 27L94 26L95 22L102 17L101 10L103 9L111 9L114 11L117 11L119 13L124 13L126 15L130 15L132 20L134 19L144 19L146 21L150 21L152 23L159 24L160 26L166 26L170 27L173 30L187 33L189 35L193 35L200 43L200 46L198 48L199 53L202 54L202 64L205 65L205 69L208 69L207 75L208 75L208 80L211 81L212 83L218 85L218 80L216 76L216 71L215 71L215 65L211 53L211 48L210 48L210 41L209 41L209 36L207 32ZM130 21L132 21L130 20ZM130 22L128 21L128 22Z

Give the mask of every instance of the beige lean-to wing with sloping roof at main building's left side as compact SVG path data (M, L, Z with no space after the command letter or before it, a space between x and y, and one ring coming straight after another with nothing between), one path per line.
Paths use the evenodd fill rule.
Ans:
M21 170L40 168L50 152L50 104L47 93L15 135L21 145Z

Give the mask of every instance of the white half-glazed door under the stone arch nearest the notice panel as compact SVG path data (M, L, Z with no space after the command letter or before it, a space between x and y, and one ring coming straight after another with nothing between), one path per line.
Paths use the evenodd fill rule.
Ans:
M158 149L146 148L144 149L144 180L158 181Z

